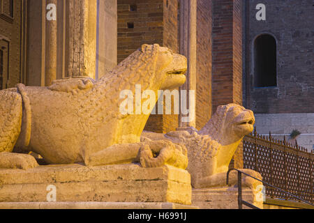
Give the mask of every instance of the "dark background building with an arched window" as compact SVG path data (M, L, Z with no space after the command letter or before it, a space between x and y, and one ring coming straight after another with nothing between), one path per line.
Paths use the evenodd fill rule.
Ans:
M257 21L255 7L266 6ZM257 132L314 146L314 1L246 1L244 105Z

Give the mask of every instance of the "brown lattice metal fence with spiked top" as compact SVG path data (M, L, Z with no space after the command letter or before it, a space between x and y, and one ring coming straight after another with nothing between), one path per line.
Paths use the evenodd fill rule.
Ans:
M253 169L265 182L294 194L306 201L314 202L313 164L314 153L306 148L289 144L269 136L253 134L244 137L244 168ZM295 200L294 197L266 186L266 195L271 198Z

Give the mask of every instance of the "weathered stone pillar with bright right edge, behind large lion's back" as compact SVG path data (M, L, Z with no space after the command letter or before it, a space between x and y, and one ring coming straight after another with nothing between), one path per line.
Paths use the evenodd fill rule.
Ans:
M97 0L68 0L67 77L96 75Z

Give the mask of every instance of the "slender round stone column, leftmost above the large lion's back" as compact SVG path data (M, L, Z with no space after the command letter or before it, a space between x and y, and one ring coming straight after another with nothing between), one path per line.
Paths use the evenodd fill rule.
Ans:
M57 9L57 0L47 0L46 5L54 4ZM47 13L47 12L46 12ZM57 11L56 11L57 15ZM57 79L57 19L46 19L46 59L45 59L45 86L50 86Z

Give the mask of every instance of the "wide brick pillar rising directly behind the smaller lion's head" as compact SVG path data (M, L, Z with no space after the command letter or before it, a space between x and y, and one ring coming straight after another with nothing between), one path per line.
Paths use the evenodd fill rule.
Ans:
M241 1L214 0L212 105L242 103Z

